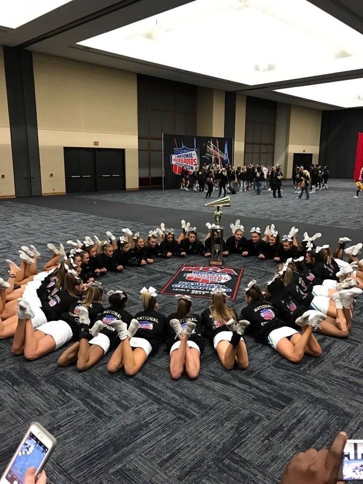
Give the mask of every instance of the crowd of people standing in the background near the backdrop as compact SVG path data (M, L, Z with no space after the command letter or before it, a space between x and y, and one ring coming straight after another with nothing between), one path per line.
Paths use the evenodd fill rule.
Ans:
M218 191L218 197L226 194L236 194L236 191L254 190L256 195L261 195L262 190L272 192L274 198L282 198L282 181L284 173L279 164L270 170L265 165L248 164L235 168L229 163L221 166L218 160L202 166L196 166L192 174L184 166L181 172L181 189L189 191L189 187L198 193L205 193L206 198L212 198L212 193ZM293 184L297 198L301 199L302 194L306 193L306 198L310 198L310 193L316 190L327 189L329 170L327 165L312 164L310 171L303 166L296 166L293 176ZM267 188L268 184L268 188ZM222 194L223 192L223 194Z

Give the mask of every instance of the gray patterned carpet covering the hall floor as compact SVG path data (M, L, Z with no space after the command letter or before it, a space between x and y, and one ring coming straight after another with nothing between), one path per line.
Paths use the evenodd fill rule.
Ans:
M299 235L321 231L334 245L348 235L362 241L359 222L363 194L353 199L354 184L332 180L329 189L309 201L296 200L286 183L284 198L264 192L232 196L224 226L240 218L246 231L275 222L280 233L291 225ZM216 197L216 192L214 193ZM115 234L129 226L146 234L165 222L179 229L185 218L206 232L211 209L202 194L172 190L94 193L0 201L0 275L6 258L17 260L21 245L34 243L46 260L47 242L84 235ZM358 223L357 223L358 221ZM189 262L205 262L203 258ZM128 268L108 274L105 289L125 289L129 310L141 309L139 290L160 290L181 264L180 259ZM243 287L251 278L265 283L276 267L268 261L231 256L226 265L242 264ZM46 470L53 484L276 484L290 457L301 449L326 446L341 429L352 438L363 433L363 303L358 300L352 334L346 340L318 335L319 360L304 358L294 366L269 347L248 340L250 367L227 372L207 344L195 381L173 381L162 347L133 378L109 375L109 356L85 373L58 368L62 349L35 362L10 353L11 341L0 341L0 469L3 469L28 424L38 420L57 437ZM169 314L175 300L159 297ZM193 299L195 311L206 307Z

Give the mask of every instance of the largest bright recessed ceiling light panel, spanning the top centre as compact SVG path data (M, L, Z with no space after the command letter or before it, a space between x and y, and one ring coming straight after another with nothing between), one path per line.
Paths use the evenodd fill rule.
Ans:
M194 0L78 43L249 85L363 66L363 35L307 0Z

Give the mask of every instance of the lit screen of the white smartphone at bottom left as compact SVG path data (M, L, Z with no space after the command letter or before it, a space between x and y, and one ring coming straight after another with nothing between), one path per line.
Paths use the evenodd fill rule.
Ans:
M5 476L9 483L24 484L24 476L29 467L38 470L47 451L48 447L30 432Z

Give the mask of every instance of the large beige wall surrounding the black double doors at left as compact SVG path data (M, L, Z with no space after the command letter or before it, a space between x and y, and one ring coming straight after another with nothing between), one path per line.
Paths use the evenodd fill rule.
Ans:
M33 65L42 193L66 191L63 148L94 141L125 149L126 188L138 188L137 74L39 53Z

